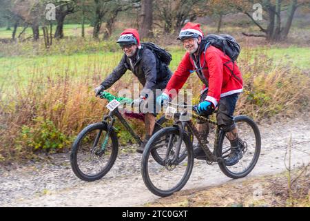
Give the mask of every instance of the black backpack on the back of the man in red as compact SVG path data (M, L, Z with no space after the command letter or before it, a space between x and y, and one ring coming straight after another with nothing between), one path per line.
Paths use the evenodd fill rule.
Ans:
M225 55L228 55L230 59L234 62L240 54L240 45L230 35L220 34L220 35L207 35L204 40L209 42L211 46L214 46L224 52Z

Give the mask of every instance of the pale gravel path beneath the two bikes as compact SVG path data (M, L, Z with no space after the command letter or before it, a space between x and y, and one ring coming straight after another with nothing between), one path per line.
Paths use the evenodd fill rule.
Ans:
M259 128L262 151L258 164L247 177L285 171L290 137L292 165L310 162L310 117L265 123ZM84 182L74 175L68 153L51 157L45 163L1 167L0 206L141 206L158 199L143 183L138 153L119 153L111 171L96 182ZM236 180L226 177L217 165L195 160L192 176L183 189L225 182Z

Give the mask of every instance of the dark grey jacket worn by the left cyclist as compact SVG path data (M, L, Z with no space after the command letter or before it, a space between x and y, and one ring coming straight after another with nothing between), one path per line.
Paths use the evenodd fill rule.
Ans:
M172 76L169 68L159 61L151 50L141 48L138 49L133 59L128 58L126 55L122 57L118 66L101 83L103 88L110 88L125 74L126 70L131 70L143 85L141 96L145 96L147 90L165 89Z

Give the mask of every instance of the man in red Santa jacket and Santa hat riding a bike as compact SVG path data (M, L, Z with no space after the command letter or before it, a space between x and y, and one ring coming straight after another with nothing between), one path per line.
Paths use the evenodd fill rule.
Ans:
M242 92L240 70L222 50L209 45L203 39L200 24L188 22L180 31L178 39L182 41L186 53L163 94L157 97L157 102L162 104L164 100L172 99L175 93L171 93L170 90L174 89L178 93L189 75L195 71L204 84L197 111L201 115L210 115L216 107L218 108L217 122L227 132L231 143L231 153L225 159L225 163L227 166L234 165L242 157L233 117L238 95ZM208 124L198 122L198 131L207 138ZM205 160L203 149L198 146L196 150L195 157Z

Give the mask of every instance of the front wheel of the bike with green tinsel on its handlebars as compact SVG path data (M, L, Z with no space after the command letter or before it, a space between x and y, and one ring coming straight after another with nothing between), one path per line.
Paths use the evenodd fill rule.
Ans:
M107 134L107 124L90 124L72 144L72 171L81 180L99 180L112 168L118 153L118 140L113 130Z

